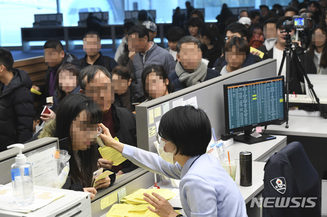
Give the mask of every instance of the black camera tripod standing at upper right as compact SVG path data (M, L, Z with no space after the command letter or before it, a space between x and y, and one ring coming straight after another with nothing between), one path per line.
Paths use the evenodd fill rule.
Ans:
M292 43L291 43L292 41L291 41L291 35L290 35L291 30L281 31L281 33L285 33L285 32L287 33L287 35L284 37L284 39L286 40L286 47L285 47L285 49L283 51L283 59L282 59L281 66L279 66L279 71L278 71L278 76L279 76L282 73L283 65L284 65L284 62L285 62L285 59L286 59L286 78L285 78L285 83L286 83L286 126L285 127L286 128L289 127L288 126L288 119L289 119L288 118L288 111L289 111L289 93L290 93L289 83L291 82L291 77L290 77L291 76L291 52L293 53L293 55L295 57L296 64L301 69L301 70L299 70L300 73L307 80L309 91L311 91L311 93L313 94L313 96L314 96L314 98L315 98L315 100L317 102L318 110L321 112L322 117L324 119L326 119L327 118L327 114L325 114L323 112L322 105L320 103L320 100L319 100L318 96L316 95L315 91L313 90L313 85L311 84L311 82L309 80L309 77L307 75L306 69L305 69L305 67L303 67L303 65L301 63L301 60L299 59L299 57L297 55L297 52L295 51L295 48L292 47ZM306 43L306 40L305 39L301 40L302 46L303 45L305 46L305 43Z

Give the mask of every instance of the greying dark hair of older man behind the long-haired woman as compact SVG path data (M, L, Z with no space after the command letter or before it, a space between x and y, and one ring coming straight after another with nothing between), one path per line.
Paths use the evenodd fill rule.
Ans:
M98 71L102 71L107 77L112 81L109 71L103 66L90 65L82 69L78 76L78 84L82 90L85 90L86 85L94 79L94 76ZM87 83L85 83L84 78L87 76Z

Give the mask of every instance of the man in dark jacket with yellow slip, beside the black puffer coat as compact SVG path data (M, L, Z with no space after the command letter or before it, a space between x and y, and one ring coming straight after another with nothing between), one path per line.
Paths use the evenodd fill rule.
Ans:
M41 97L45 103L45 98L53 96L55 93L55 80L58 68L66 63L73 64L78 69L80 67L77 57L65 52L60 41L50 39L45 42L43 48L45 64L49 66L45 74L45 85L33 86L33 88L42 93Z

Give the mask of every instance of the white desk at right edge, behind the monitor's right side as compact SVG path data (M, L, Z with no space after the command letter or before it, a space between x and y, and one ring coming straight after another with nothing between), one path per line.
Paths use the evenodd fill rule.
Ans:
M290 115L288 125L269 125L266 133L327 138L327 119L322 117Z

